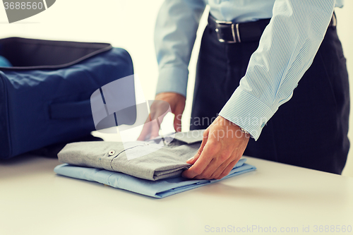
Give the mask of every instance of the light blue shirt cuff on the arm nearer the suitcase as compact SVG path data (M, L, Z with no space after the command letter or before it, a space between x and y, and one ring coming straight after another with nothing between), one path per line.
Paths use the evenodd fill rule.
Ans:
M158 76L156 95L161 92L176 92L186 97L188 86L188 69L178 67L166 67L160 69Z

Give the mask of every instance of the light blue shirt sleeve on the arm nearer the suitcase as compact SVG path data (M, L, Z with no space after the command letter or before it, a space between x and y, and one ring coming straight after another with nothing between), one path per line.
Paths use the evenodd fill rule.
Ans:
M159 68L156 94L177 92L186 97L189 61L203 0L166 0L155 25L155 51Z

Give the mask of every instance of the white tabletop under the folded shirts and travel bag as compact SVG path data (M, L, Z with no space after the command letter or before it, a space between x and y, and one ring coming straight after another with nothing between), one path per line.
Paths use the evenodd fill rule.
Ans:
M0 234L353 234L325 232L353 226L353 178L247 162L257 170L155 199L58 176L57 159L0 161Z

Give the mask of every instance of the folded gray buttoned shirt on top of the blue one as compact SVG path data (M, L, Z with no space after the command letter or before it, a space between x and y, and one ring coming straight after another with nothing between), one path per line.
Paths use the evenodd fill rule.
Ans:
M141 179L158 180L177 177L191 164L186 160L193 157L201 145L203 131L175 133L169 144L161 147L157 140L120 142L69 143L58 154L59 161L81 167L94 167L118 171ZM168 139L168 136L165 140ZM147 155L131 159L133 155ZM129 156L129 158L126 157Z

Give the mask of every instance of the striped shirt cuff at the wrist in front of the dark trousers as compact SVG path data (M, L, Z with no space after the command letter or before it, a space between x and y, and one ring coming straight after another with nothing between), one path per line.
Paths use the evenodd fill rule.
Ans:
M277 111L277 108L275 109L271 109L258 98L237 88L222 108L220 116L237 124L244 131L249 132L255 140L258 140L262 128Z

